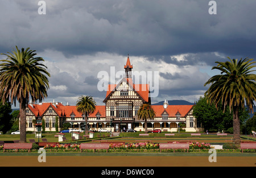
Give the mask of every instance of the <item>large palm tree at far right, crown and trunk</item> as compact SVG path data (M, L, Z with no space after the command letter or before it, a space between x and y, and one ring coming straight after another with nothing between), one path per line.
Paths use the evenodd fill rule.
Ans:
M252 74L250 69L255 67L252 65L255 61L253 59L237 59L226 62L216 62L221 74L211 77L205 84L210 85L205 96L210 104L216 107L221 104L223 111L229 107L230 113L233 110L233 136L234 143L240 147L240 119L238 111L246 106L249 111L253 112L254 101L256 98L256 75ZM255 71L255 70L254 70Z

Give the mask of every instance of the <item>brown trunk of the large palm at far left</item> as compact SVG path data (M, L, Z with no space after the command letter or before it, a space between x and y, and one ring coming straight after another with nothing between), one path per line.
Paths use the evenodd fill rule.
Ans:
M21 102L19 104L19 114L20 114L20 123L19 123L19 131L20 138L19 142L26 143L27 135L26 135L26 102Z

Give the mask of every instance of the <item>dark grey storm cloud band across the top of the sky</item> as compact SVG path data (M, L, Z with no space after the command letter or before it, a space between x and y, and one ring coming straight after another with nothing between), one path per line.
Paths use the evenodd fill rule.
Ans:
M104 51L254 57L256 2L216 2L217 15L209 15L208 1L46 1L47 14L39 15L35 1L2 1L1 51L19 44L68 56Z

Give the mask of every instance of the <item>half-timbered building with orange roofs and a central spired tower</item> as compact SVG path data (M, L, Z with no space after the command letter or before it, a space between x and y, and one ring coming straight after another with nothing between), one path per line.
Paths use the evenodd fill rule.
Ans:
M150 103L150 88L148 84L134 84L131 78L133 65L127 57L125 77L118 84L109 84L106 92L105 105L96 106L96 110L88 117L88 127L91 130L106 128L112 131L134 129L144 131L143 120L137 116L142 104ZM186 131L199 131L202 129L192 114L193 105L152 105L155 110L155 118L147 120L148 130L160 129L162 131L177 131L178 124L183 123ZM45 122L46 131L55 131L63 128L64 123L71 127L83 129L85 127L85 115L76 110L76 106L63 105L60 102L43 102L29 104L26 109L27 130L35 131L36 123L40 117Z

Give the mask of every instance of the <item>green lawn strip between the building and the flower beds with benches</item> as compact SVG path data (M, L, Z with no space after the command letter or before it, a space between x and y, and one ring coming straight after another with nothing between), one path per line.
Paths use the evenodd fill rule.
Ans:
M139 136L139 134L144 132L137 132L137 133L120 133L118 137L110 138L106 137L107 133L94 133L94 139L112 139L115 142L118 141L125 141L126 143L136 142L136 140L145 139L145 140L152 140L153 143L164 143L164 142L171 142L171 141L185 141L185 140L192 140L192 142L206 142L206 143L229 143L233 140L233 135L228 136L217 136L216 134L201 134L201 136L191 136L191 133L174 133L175 136L165 136L166 133L148 133L148 136ZM57 133L44 133L42 134L43 138L46 138L48 142L58 142L58 138L55 137ZM84 133L81 133L80 136L83 136ZM101 136L101 137L100 137ZM105 136L105 137L102 137ZM68 142L72 142L71 133L65 134L65 137L68 139ZM251 136L241 135L242 140L254 139ZM38 138L35 138L35 134L27 134L27 142L29 139L35 139L38 142ZM2 134L0 135L0 140L19 140L19 135L11 135L11 134ZM86 139L86 141L89 141ZM42 142L42 138L39 138L39 142ZM77 141L78 142L78 141ZM79 140L82 142L82 140ZM90 139L90 142L91 139Z

